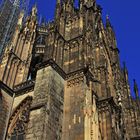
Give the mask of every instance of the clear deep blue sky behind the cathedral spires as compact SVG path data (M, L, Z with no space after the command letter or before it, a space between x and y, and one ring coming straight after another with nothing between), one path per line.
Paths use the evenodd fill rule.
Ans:
M39 14L53 19L56 0L36 0ZM31 1L34 3L34 0ZM125 61L133 90L133 79L140 86L140 0L97 0L103 19L109 15L114 27L121 62Z

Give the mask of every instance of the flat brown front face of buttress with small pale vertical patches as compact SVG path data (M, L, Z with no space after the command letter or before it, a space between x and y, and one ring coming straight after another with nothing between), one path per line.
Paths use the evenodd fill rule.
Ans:
M62 140L84 140L85 82L85 77L77 74L65 85Z

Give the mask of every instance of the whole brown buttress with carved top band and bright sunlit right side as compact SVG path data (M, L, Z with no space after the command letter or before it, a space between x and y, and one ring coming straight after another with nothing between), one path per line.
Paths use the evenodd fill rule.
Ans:
M67 80L62 140L100 140L96 101L87 82L83 74Z

